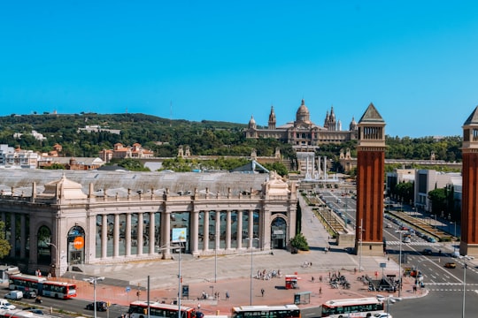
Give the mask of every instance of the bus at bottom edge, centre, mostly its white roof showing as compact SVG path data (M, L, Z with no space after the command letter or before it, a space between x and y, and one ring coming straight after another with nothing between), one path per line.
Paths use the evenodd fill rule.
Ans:
M243 306L232 308L232 318L300 318L296 305L284 306Z

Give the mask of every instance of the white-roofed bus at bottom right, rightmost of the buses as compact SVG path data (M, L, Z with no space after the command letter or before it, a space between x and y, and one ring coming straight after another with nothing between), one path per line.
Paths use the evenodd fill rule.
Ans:
M322 317L373 317L383 313L383 301L369 297L361 299L335 299L322 304Z

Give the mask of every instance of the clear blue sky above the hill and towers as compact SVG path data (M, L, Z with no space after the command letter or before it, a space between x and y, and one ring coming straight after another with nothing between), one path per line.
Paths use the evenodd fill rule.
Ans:
M475 1L4 1L0 116L144 113L461 135L478 105Z

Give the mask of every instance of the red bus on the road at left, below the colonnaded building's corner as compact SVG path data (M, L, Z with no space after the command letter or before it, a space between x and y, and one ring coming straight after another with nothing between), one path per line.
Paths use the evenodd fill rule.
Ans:
M11 291L35 291L38 295L56 299L71 299L76 297L75 284L49 281L43 276L25 274L11 275L8 279Z

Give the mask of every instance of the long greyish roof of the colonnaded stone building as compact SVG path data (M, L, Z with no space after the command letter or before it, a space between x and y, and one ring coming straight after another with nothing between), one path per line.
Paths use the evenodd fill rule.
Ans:
M262 184L269 180L269 174L246 173L196 173L196 172L133 172L133 171L99 171L99 170L0 170L0 190L13 194L30 196L35 182L37 193L42 193L49 182L58 182L64 176L81 184L83 193L89 193L92 184L96 195L126 196L148 193L151 189L155 195L164 193L205 192L237 194L243 191L261 191Z

